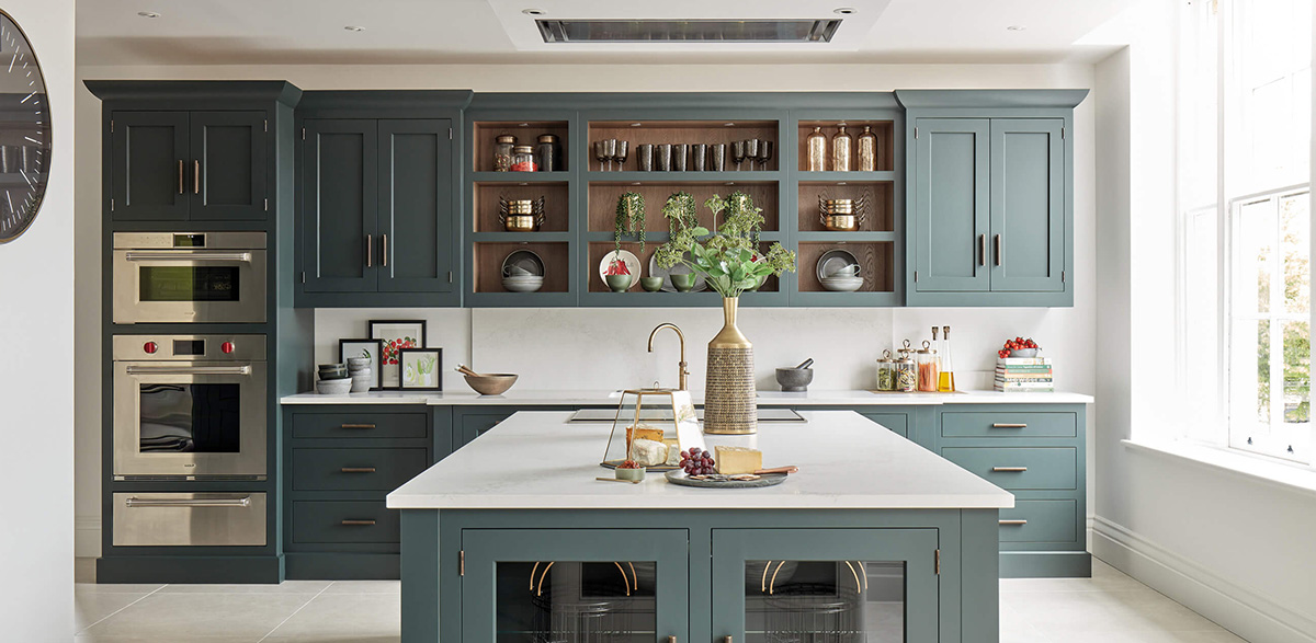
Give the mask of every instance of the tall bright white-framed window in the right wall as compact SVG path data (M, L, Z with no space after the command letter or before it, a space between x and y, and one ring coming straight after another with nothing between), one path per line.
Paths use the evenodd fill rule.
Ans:
M1186 437L1313 463L1311 0L1184 0L1179 384Z

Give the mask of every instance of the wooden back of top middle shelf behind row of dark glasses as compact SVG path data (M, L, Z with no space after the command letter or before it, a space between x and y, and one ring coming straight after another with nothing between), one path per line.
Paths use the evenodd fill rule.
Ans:
M640 164L636 160L636 146L638 145L707 143L712 146L726 143L725 171L733 171L736 170L736 163L732 160L730 143L749 138L772 142L772 158L766 164L755 163L755 170L776 170L780 167L778 164L780 146L776 139L776 121L594 121L590 122L588 134L590 149L586 150L586 156L588 156L586 167L592 171L603 171L609 167L608 163L600 163L594 155L594 142L608 138L630 142L626 162L620 166L617 162L612 162L612 170L640 170ZM675 153L672 154L675 155ZM712 150L709 150L708 170L712 170L711 158ZM687 170L694 168L691 159L687 159L686 167ZM746 162L742 168L749 170L749 163Z

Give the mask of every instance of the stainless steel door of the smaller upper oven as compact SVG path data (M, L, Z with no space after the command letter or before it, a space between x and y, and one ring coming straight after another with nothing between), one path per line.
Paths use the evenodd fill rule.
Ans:
M114 323L262 323L265 250L116 250Z

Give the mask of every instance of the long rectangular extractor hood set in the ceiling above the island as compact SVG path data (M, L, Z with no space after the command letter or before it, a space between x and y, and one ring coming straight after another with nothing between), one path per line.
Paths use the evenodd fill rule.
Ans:
M832 42L842 20L536 20L544 42Z

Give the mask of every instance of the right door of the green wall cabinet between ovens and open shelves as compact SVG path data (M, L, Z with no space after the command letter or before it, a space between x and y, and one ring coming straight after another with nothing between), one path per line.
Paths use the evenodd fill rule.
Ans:
M379 121L379 291L451 292L449 120Z

